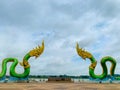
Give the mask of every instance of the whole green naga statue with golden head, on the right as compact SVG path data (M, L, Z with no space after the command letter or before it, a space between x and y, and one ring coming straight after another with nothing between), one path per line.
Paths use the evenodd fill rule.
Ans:
M93 57L93 55L85 50L83 50L82 48L79 48L79 45L77 43L76 45L76 50L79 56L81 56L83 59L90 59L91 61L91 65L89 66L89 75L94 78L94 79L104 79L107 77L108 75L108 69L106 66L106 62L109 61L111 62L112 66L110 69L110 75L114 76L114 71L115 71L115 67L116 67L116 61L114 58L110 57L110 56L106 56L104 58L101 59L101 66L103 69L103 72L101 75L95 75L94 70L95 67L97 65L97 61L95 60L95 58Z

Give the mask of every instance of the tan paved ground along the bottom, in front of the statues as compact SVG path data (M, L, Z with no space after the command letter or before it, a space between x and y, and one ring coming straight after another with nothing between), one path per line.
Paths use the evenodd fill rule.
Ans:
M0 90L120 90L120 84L0 83Z

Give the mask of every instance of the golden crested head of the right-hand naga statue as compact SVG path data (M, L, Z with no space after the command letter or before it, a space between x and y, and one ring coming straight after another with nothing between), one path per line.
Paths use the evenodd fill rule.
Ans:
M83 59L92 57L91 53L83 50L82 48L79 48L79 44L78 43L76 45L76 50L77 50L78 55L81 56Z

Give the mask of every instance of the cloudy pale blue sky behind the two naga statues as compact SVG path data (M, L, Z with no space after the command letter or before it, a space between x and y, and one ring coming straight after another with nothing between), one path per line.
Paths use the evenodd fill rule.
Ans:
M116 59L120 74L119 5L119 0L0 0L0 65L8 57L22 61L44 40L44 53L29 60L30 75L89 75L91 63L78 56L78 42L96 58L96 74L102 73L104 56ZM110 71L111 63L107 66Z

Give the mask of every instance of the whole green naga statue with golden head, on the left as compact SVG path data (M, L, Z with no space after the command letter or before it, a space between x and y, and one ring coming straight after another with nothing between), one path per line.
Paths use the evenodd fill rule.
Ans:
M28 59L30 57L35 56L35 58L39 57L44 51L44 41L42 42L42 46L38 46L35 49L29 51L23 58L23 62L20 62L20 65L24 67L24 72L22 74L16 73L15 67L18 64L18 60L16 58L6 58L2 62L2 70L0 73L0 78L4 77L7 71L7 63L8 62L13 62L11 67L10 67L10 75L12 77L17 77L17 78L25 78L29 75L30 73L30 65L28 62Z

